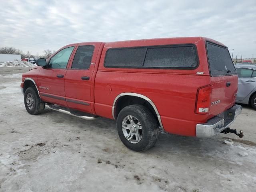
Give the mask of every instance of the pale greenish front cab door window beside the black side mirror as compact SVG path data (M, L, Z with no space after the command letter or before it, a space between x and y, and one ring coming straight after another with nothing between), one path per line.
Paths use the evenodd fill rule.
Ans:
M48 68L65 69L73 49L74 47L68 47L54 55L48 64Z

